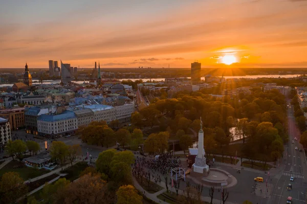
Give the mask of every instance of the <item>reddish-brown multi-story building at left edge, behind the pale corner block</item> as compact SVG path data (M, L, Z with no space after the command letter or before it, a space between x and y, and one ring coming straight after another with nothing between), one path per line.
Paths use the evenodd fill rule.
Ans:
M0 117L9 120L11 130L25 127L25 108L0 109Z

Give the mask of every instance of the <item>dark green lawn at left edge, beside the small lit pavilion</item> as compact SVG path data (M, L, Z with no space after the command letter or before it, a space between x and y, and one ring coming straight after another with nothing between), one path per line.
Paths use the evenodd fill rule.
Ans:
M23 162L19 162L17 160L12 160L7 165L5 165L2 169L0 169L0 176L7 172L17 172L20 177L24 180L28 180L30 178L35 178L42 174L46 174L49 170L46 169L37 169L33 167L27 167Z

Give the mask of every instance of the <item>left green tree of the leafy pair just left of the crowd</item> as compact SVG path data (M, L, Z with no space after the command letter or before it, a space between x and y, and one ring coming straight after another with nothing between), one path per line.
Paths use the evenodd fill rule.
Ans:
M112 162L113 156L116 153L116 149L108 149L100 152L96 161L96 168L99 172L105 173L111 176L110 164Z

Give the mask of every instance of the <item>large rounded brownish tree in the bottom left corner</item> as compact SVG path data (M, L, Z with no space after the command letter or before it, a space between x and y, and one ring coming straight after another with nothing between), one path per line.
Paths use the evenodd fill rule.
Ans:
M14 203L25 195L27 187L17 172L4 173L0 180L0 203Z

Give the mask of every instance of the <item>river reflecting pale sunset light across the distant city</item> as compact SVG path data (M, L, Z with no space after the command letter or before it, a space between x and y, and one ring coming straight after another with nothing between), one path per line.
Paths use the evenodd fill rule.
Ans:
M298 75L296 74L291 74L291 75L247 75L247 76L225 76L224 78L225 79L240 79L240 78L246 78L246 79L256 79L256 78L293 78L293 77L297 77ZM190 78L190 77L188 77ZM205 77L202 77L201 78L202 80L205 80ZM136 81L136 80L140 80L140 79L117 79L119 81L122 81L122 80L131 80L131 81ZM144 78L142 79L143 81L164 81L165 78ZM36 83L33 83L33 84L39 84L38 80L33 80L33 81L37 81ZM43 81L42 83L43 84L57 84L57 83L60 83L61 80L45 80ZM74 83L77 83L77 84L82 84L83 81L72 81ZM85 83L88 83L89 81L85 81ZM4 87L4 86L13 86L12 83L8 83L8 84L0 84L0 87Z

